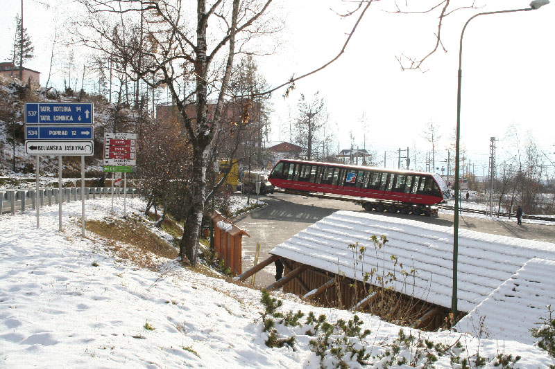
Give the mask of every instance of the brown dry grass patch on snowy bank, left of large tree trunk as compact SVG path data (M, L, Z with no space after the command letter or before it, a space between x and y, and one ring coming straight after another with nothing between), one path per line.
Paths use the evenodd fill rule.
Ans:
M168 259L178 257L176 247L150 231L148 223L136 215L127 219L88 220L85 227L106 240L106 251L114 253L117 258L130 260L139 267L155 269L155 256Z

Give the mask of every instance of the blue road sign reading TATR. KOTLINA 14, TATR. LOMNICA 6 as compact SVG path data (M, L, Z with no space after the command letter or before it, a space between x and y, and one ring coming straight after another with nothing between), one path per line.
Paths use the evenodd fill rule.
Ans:
M26 102L26 124L92 125L92 102Z

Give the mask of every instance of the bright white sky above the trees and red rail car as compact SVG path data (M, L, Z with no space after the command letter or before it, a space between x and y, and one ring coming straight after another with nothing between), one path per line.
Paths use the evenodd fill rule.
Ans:
M46 81L49 69L53 24L65 17L67 0L48 1L46 8L34 0L24 0L24 21L35 44L34 60L26 66L42 72ZM44 0L47 1L47 0ZM43 2L44 2L43 1ZM422 3L409 1L412 10L425 10ZM402 1L401 3L404 3ZM481 11L527 8L529 1L481 1ZM19 0L4 0L0 13L3 35L0 53L9 57L13 19L20 11ZM352 3L347 3L352 6ZM301 75L330 60L339 52L346 33L355 19L342 19L330 11L345 9L340 0L281 0L275 4L287 21L280 38L284 44L273 55L260 57L259 71L271 85L281 84L291 75ZM341 149L350 147L350 132L355 145L375 150L383 161L388 151L388 166L397 163L397 150L408 146L419 167L431 145L422 137L426 123L434 122L441 134L436 167L442 166L456 125L456 74L459 37L464 23L477 10L461 10L445 17L443 50L429 57L422 71L401 71L395 56L422 57L432 50L437 30L431 15L398 15L392 1L370 6L352 37L346 53L324 71L299 81L287 100L282 91L273 96L271 141L289 140L289 110L296 114L300 93L315 91L325 98L330 129L339 137ZM515 141L505 138L507 127L520 125L530 131L540 149L555 161L553 107L555 91L554 60L555 3L540 10L512 14L485 15L472 20L463 41L463 80L461 101L461 142L468 149L476 174L488 163L490 137L497 141L498 159L516 153ZM55 71L60 66L55 66ZM61 87L61 86L58 86ZM366 112L366 133L360 116ZM281 128L280 128L281 127ZM280 133L281 131L281 133ZM524 141L524 137L522 138ZM337 145L337 143L335 144ZM336 148L336 147L335 147ZM393 152L395 151L395 153ZM545 159L545 158L544 158ZM445 164L443 164L445 165ZM551 165L545 159L545 165ZM413 165L411 165L412 167ZM441 172L441 170L440 170ZM553 173L553 170L551 170ZM487 174L487 169L486 169Z

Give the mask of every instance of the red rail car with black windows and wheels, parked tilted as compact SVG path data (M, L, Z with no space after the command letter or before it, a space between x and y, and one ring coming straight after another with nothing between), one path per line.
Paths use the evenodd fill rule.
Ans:
M365 210L388 213L430 215L432 205L450 197L438 174L339 163L280 160L268 181L289 191L360 197L355 202Z

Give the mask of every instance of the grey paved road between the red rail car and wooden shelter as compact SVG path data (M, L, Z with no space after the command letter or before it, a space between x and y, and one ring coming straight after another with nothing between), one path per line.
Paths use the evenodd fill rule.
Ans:
M250 237L243 237L243 271L253 267L257 242L260 242L259 262L262 262L269 257L268 251L274 246L289 240L291 236L323 217L327 217L337 210L364 211L360 205L348 201L316 199L281 193L261 196L260 200L266 202L268 206L234 219L234 223L250 235ZM440 214L439 217L432 218L387 213L382 213L382 215L415 219L441 226L453 226L452 215ZM463 213L459 217L459 227L495 235L555 243L555 225L526 224L523 221L522 226L518 226L516 219L514 222L497 222L491 219L465 216ZM275 281L274 275L275 267L271 264L257 273L255 285L258 287L270 285Z

